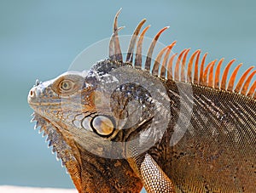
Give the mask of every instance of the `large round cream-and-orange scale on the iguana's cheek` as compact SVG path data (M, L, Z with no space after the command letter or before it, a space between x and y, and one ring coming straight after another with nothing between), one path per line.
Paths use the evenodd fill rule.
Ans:
M91 128L102 136L109 136L114 131L113 120L108 116L96 116L91 122Z

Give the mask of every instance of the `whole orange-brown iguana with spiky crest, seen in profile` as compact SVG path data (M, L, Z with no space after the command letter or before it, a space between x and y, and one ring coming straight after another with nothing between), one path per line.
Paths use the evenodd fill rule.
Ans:
M108 59L88 73L37 82L28 94L36 128L48 135L79 192L256 192L253 67L235 87L241 64L228 78L231 60L220 79L223 59L204 67L207 54L189 57L189 49L169 57L176 42L151 65L167 27L142 65L145 20L124 61L118 15Z

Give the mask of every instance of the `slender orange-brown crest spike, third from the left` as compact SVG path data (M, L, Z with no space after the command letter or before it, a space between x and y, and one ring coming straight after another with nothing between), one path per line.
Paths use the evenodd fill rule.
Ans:
M142 57L143 38L144 38L144 35L145 35L146 31L148 31L149 27L150 26L145 27L145 29L141 33L141 36L139 37L139 40L137 42L136 56L135 56L135 62L134 62L134 67L137 68L137 69L142 69L142 65L143 65L143 57Z

